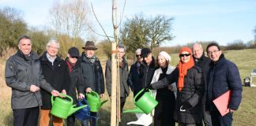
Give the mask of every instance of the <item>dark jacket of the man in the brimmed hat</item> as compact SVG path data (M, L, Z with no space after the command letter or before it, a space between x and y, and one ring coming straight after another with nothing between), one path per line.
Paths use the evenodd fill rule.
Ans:
M92 64L88 61L88 58L85 57L85 53L83 53L79 61L81 62L82 76L85 82L84 93L86 88L90 87L92 91L96 91L98 94L104 94L104 74L100 60L96 57L96 61Z

